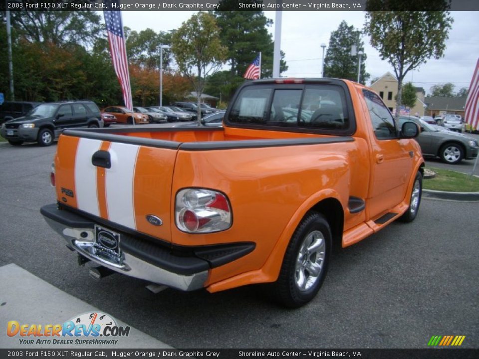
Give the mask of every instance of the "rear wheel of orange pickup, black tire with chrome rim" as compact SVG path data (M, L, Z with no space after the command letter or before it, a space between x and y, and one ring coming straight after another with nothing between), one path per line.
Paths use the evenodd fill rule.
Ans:
M331 229L324 216L316 212L306 214L291 237L279 277L271 284L273 299L289 308L311 301L326 277L331 244Z

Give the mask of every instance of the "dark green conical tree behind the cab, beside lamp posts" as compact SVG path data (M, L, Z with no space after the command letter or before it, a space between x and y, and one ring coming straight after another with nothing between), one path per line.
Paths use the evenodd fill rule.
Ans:
M364 42L361 41L360 32L354 26L348 26L346 21L339 24L337 30L331 32L329 47L324 58L324 77L344 78L352 81L358 80L358 55L351 56L351 46L356 45L362 51L361 70L359 82L363 85L369 78L366 72L366 58Z

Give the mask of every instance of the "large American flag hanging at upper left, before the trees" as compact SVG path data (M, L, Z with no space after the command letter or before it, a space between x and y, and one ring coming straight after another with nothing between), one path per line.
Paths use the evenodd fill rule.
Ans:
M112 4L119 3L119 1L105 0L104 3L107 9L111 9ZM121 12L119 10L105 10L103 11L103 16L105 17L111 59L113 61L116 76L120 82L121 91L123 92L125 107L132 110L133 101L131 98L130 74L128 73L128 59L126 58L126 46L125 37L123 35L123 24L121 22Z

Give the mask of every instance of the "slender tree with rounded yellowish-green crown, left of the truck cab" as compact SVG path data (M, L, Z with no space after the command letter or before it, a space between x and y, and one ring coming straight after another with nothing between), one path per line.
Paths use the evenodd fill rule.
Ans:
M172 52L180 72L186 76L197 93L198 123L201 124L200 99L205 79L225 62L227 49L221 44L220 29L215 17L198 12L173 34Z

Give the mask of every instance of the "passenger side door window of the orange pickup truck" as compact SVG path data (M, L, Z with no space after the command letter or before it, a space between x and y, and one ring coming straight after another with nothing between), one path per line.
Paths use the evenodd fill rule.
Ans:
M363 90L364 98L369 110L369 117L378 139L390 139L396 137L394 119L386 106L375 93Z

